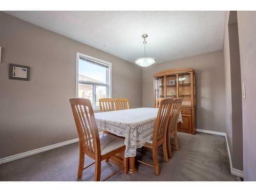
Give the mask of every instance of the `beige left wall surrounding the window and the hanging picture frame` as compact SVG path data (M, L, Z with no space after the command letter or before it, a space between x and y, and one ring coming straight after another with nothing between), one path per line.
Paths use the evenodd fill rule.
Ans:
M111 62L112 97L142 106L142 70L133 63L3 12L0 26L0 158L77 138L69 104L76 52ZM9 63L30 66L30 81L8 79Z

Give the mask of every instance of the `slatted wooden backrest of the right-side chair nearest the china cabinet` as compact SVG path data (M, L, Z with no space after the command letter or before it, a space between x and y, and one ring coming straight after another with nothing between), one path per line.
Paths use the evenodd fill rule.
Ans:
M177 123L180 115L182 98L176 98L173 102L173 109L170 114L170 119L168 123L168 132L173 132L177 130Z

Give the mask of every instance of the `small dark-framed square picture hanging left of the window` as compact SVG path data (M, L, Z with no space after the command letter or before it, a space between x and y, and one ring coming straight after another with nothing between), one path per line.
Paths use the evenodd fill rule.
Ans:
M9 65L9 79L29 81L30 67L15 64Z

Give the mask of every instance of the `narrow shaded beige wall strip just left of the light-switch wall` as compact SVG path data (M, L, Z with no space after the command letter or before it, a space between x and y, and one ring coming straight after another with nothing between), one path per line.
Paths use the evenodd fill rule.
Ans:
M243 170L242 92L236 11L227 12L224 35L227 138L232 167Z

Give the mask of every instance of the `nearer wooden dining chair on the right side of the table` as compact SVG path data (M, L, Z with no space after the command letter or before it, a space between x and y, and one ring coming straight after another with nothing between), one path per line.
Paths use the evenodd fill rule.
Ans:
M138 160L140 163L154 167L157 176L160 174L157 148L161 145L163 146L164 161L168 162L166 132L170 112L172 111L172 104L173 99L168 98L161 100L154 125L153 138L144 145L144 147L152 149L154 165Z

